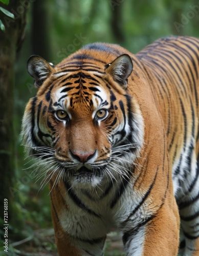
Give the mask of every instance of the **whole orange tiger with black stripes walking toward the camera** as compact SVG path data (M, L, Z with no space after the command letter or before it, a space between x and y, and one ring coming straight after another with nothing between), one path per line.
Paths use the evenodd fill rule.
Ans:
M37 94L21 134L49 184L59 255L104 255L118 230L128 256L198 256L199 39L137 54L96 42L27 69Z

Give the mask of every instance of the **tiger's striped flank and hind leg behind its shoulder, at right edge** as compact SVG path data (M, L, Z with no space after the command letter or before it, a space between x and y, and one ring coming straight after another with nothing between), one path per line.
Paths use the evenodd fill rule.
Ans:
M197 255L199 237L199 40L166 37L137 54L164 121L182 226L183 255ZM195 250L195 251L194 251ZM182 250L183 253L183 250ZM194 254L195 253L195 254Z

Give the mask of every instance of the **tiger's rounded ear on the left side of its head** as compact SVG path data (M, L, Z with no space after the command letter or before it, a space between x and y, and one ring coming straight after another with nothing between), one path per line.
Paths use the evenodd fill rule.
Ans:
M35 79L35 87L41 86L54 71L55 66L38 55L32 55L28 59L28 73Z

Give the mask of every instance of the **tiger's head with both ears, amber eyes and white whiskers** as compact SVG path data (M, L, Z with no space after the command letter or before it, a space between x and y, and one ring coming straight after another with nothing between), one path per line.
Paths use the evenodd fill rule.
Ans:
M142 147L143 121L127 90L130 56L106 63L79 55L57 66L29 58L38 91L26 106L22 135L43 173L51 171L49 179L94 187L129 176Z

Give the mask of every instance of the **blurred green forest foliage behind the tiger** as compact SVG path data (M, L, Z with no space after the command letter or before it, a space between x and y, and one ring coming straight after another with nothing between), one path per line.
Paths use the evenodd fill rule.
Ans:
M120 44L136 53L153 40L167 35L199 36L199 2L185 0L46 0L45 12L48 21L48 61L60 62L81 46L94 41ZM29 159L24 160L21 146L20 126L26 102L36 94L26 70L26 62L33 52L33 3L28 13L26 38L15 66L14 131L15 131L15 175L12 190L15 202L16 223L10 229L17 234L15 240L30 236L33 229L50 227L50 197L48 186L39 190L31 176L33 169ZM117 26L123 38L118 40L113 33L112 20L117 7L120 16ZM39 18L39 17L38 17ZM37 28L39 30L39 28ZM43 40L36 38L37 41ZM25 165L26 164L26 165ZM39 192L38 192L39 191ZM112 254L111 254L112 255Z

